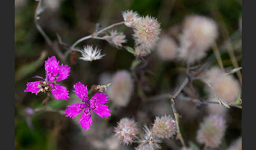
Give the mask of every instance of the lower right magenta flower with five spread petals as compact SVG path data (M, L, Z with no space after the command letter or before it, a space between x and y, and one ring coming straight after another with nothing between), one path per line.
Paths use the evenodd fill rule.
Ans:
M74 89L75 90L73 92L76 93L83 103L68 105L64 114L74 119L74 117L83 112L79 121L83 130L84 128L88 130L90 125L92 125L91 110L102 118L103 116L107 117L111 115L111 111L107 108L107 105L104 105L104 103L108 101L108 97L105 93L97 92L89 101L87 85L85 86L81 82L78 82L74 85Z

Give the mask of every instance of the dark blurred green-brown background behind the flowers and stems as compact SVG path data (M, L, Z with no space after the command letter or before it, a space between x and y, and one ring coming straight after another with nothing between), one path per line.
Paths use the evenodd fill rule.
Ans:
M34 14L37 1L15 0L15 149L134 149L136 144L122 146L114 135L114 126L123 117L134 118L143 124L151 125L155 116L172 114L169 100L143 101L134 83L134 90L126 106L115 106L108 103L112 115L105 119L93 114L93 125L90 130L83 131L78 124L79 117L72 120L65 117L62 111L66 106L78 102L74 94L73 84L81 81L90 88L93 84L105 84L112 75L119 70L131 70L134 56L124 48L117 49L105 40L88 39L77 47L93 45L102 49L105 56L97 61L82 61L78 59L80 53L71 53L64 61L56 55L38 32L34 24ZM102 27L122 22L122 12L131 9L141 16L156 17L161 23L162 33L178 39L181 24L186 16L198 14L213 18L219 27L216 45L221 50L224 68L234 68L225 50L225 41L230 39L234 47L234 54L241 66L241 1L185 1L185 0L43 0L44 11L38 23L54 42L57 49L66 50L57 44L57 36L62 41L72 45L77 39L90 35L95 31L96 24ZM133 31L125 25L115 27L117 31L126 35L125 46L133 47ZM213 50L208 50L208 56ZM36 81L33 76L45 76L44 61L47 57L56 56L61 63L71 67L71 76L61 82L70 91L69 101L54 100L53 98L43 106L45 93L38 95L24 92L26 83ZM206 58L206 57L205 57ZM182 71L186 64L180 61L163 61L153 51L148 58L149 73L143 74L143 90L147 97L154 97L164 93L171 93L185 78ZM213 65L218 65L215 60ZM238 79L237 74L233 74ZM133 77L132 77L133 78ZM104 82L104 83L103 83ZM205 95L204 84L194 81L196 90ZM196 108L190 104L177 104L181 132L186 143L196 144L195 134L205 115L205 108ZM31 108L31 109L29 109ZM33 109L51 108L57 111L37 111ZM228 147L233 140L241 136L241 109L231 108L228 111L228 128L221 147ZM165 140L162 149L179 149L180 142L175 138ZM218 149L218 148L217 148Z

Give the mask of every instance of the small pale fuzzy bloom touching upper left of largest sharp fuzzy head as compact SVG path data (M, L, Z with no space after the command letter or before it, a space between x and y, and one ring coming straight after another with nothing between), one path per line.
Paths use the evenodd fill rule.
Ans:
M140 15L132 10L126 10L123 12L124 24L127 27L134 27L135 24L140 20Z

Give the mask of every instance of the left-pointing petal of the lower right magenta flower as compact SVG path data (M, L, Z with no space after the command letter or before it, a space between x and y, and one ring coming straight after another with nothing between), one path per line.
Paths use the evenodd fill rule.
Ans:
M85 108L85 104L68 105L64 114L66 114L66 116L72 117L72 119L74 119L74 117L76 117L78 114L80 114L84 110L84 108Z

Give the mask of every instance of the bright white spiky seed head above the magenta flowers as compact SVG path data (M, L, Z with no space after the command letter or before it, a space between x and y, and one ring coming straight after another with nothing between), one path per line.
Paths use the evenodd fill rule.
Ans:
M104 56L101 55L101 49L98 49L97 47L93 49L93 47L89 45L84 46L84 48L80 50L80 52L82 53L82 57L80 57L80 59L85 61L101 59Z

